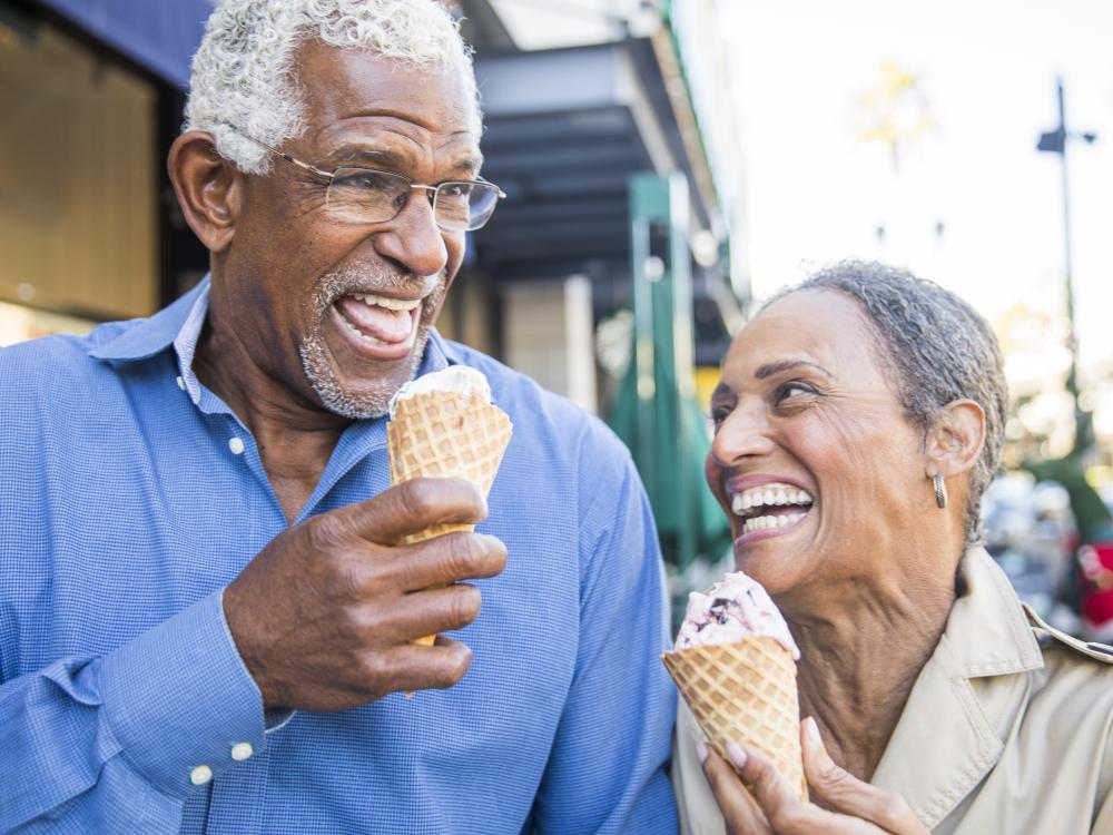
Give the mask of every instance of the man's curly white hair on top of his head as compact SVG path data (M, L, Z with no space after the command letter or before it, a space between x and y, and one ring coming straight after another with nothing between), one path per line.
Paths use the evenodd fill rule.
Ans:
M211 134L245 174L266 174L270 155L230 126L276 148L305 129L294 71L297 48L317 39L415 68L459 68L474 105L471 50L436 0L217 0L193 61L186 130Z

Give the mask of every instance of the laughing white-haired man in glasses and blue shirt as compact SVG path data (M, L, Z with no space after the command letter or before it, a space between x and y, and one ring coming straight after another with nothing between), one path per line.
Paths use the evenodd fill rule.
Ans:
M630 459L433 330L479 136L432 0L218 6L169 158L210 278L0 353L0 831L674 828ZM489 503L390 489L390 397L453 364L514 422Z

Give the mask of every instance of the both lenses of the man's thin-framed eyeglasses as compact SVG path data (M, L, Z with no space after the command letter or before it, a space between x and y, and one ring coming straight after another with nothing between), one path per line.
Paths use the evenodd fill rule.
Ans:
M329 213L349 223L385 223L410 199L410 181L397 174L367 168L338 168L325 195ZM499 202L486 183L442 183L436 188L435 219L446 230L470 232L487 222Z

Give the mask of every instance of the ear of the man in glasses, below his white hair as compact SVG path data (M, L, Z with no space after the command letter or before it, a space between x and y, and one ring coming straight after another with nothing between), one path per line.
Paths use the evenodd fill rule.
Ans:
M227 248L243 195L236 166L217 154L211 136L190 130L174 140L167 169L189 228L209 252Z

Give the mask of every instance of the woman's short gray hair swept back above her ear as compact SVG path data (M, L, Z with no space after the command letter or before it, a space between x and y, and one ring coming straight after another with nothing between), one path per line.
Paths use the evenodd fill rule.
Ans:
M820 269L770 302L804 289L836 289L867 314L878 353L912 422L925 432L939 411L972 400L985 411L985 445L969 477L966 544L982 541L982 494L1001 463L1008 391L989 324L937 284L896 267L845 261Z

